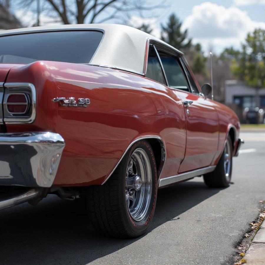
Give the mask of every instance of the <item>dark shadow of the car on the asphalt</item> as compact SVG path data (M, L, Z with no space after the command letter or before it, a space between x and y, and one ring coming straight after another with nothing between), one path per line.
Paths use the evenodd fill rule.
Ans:
M219 191L194 181L159 190L149 233ZM24 203L0 212L0 264L87 264L138 240L98 235L82 200L49 196L36 207Z

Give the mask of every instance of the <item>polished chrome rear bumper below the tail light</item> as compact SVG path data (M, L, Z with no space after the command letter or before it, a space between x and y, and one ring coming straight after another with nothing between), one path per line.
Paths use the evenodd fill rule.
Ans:
M0 134L0 185L51 187L64 145L53 132Z

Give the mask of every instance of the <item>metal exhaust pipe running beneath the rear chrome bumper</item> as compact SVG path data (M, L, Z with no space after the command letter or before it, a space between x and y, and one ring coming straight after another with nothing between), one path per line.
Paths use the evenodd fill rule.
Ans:
M38 189L30 189L27 192L13 195L10 198L0 199L0 210L37 198L39 193Z

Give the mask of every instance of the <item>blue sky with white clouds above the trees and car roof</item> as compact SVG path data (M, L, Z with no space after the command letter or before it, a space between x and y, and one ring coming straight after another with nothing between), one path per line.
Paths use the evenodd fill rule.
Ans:
M160 1L161 0L153 0ZM143 0L144 2L144 0ZM133 14L130 24L138 27L143 22L153 28L152 34L160 38L160 24L167 22L175 13L183 22L182 29L188 29L193 43L201 43L204 52L221 53L226 47L240 49L246 34L255 28L265 29L265 0L165 0L167 8L150 12L148 18ZM24 11L16 11L19 18L26 19ZM152 17L153 15L153 17ZM41 16L42 24L50 19ZM29 24L29 21L25 21ZM32 23L31 23L32 24Z

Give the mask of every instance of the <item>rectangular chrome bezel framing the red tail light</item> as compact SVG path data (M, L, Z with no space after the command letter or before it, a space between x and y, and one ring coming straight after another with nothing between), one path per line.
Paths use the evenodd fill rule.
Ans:
M4 87L6 87L7 91L4 93L4 100L3 100L3 109L4 113L5 110L7 111L7 106L6 106L6 100L7 97L9 96L9 92L11 90L11 93L16 93L16 92L21 92L19 88L24 88L29 90L30 96L31 96L31 107L32 107L32 113L30 117L4 117L4 123L6 124L19 124L19 123L32 123L34 122L36 118L36 89L33 84L31 83L4 83Z

